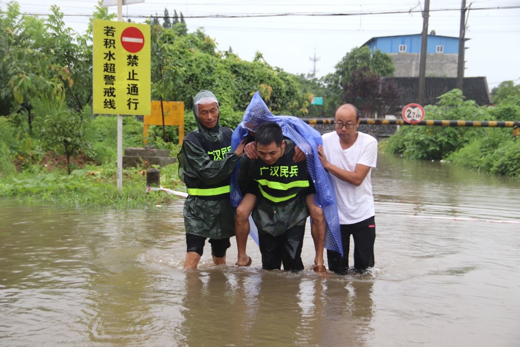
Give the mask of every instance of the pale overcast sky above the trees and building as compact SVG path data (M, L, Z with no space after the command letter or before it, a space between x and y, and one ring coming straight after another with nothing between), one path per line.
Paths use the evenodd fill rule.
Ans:
M114 0L115 1L115 0ZM0 0L5 9L8 1ZM22 13L45 16L52 5L77 33L86 31L96 0L19 0ZM462 1L431 0L428 32L458 37ZM520 1L466 0L465 77L485 76L489 91L503 81L520 84ZM424 1L408 0L145 0L123 6L123 19L183 13L189 32L203 28L221 51L243 60L256 52L294 74L334 72L354 47L372 37L420 34ZM109 6L117 13L116 6ZM341 15L340 15L341 14ZM267 16L270 15L270 16ZM231 18L230 18L231 17ZM161 20L162 22L162 20Z

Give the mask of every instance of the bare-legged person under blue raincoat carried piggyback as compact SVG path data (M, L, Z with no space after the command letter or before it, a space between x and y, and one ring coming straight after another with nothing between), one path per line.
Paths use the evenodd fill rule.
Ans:
M311 235L315 246L314 266L315 272L327 272L323 265L324 245L329 249L342 252L339 220L335 203L334 188L330 175L323 169L318 159L318 144L322 143L319 132L305 124L301 119L292 116L272 115L267 105L256 92L244 113L244 118L231 138L231 148L237 146L244 137L254 136L256 127L263 122L276 122L284 136L290 138L295 146L294 161L300 162L307 159L307 168L313 183L316 185L316 194L306 196L306 205L311 217ZM249 158L258 158L256 146L248 144L244 151ZM242 196L236 188L236 176L231 179L231 200L237 207L235 219L235 232L238 248L238 266L249 266L251 258L246 253L246 244L250 230L249 215L256 203L256 196L245 194ZM238 191L237 191L238 190ZM253 238L255 236L252 234Z

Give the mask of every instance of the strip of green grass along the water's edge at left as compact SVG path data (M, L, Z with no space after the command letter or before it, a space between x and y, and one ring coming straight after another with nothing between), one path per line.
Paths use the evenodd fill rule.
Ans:
M186 191L184 183L178 179L177 164L158 169L162 186ZM86 165L70 175L58 169L49 173L33 168L4 177L0 183L0 197L25 204L111 209L142 208L168 204L178 199L163 191L146 194L146 171L142 169L123 169L122 182L123 187L119 191L115 165Z

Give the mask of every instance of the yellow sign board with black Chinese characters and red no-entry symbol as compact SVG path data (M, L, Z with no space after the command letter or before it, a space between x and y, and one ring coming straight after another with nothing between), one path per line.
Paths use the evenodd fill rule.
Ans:
M150 25L94 20L94 113L150 114Z

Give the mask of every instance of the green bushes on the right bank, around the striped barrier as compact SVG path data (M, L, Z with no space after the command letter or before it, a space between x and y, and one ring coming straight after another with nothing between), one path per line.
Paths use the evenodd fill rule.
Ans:
M464 100L459 89L428 105L425 119L518 121L520 85L506 81L493 89L493 107ZM410 159L447 160L490 174L520 178L520 137L512 128L402 126L385 140L382 149Z

